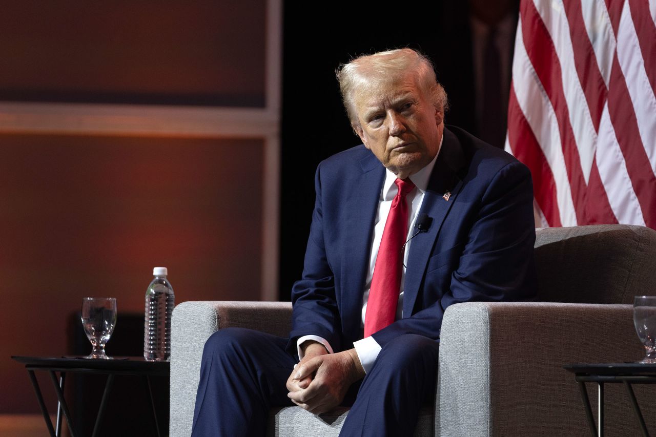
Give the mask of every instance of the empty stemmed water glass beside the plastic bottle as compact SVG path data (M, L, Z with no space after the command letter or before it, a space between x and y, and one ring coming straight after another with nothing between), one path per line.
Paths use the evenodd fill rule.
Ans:
M92 350L84 358L111 360L105 354L105 344L110 340L116 325L116 299L113 297L83 297L82 325L91 342Z

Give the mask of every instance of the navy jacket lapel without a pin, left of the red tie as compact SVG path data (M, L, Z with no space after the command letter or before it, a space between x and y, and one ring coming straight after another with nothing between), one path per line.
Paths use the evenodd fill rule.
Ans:
M360 161L362 173L350 183L352 193L346 200L346 239L344 262L341 266L342 322L346 333L361 332L363 288L369 256L373 225L378 210L380 190L385 180L385 167L371 154ZM348 314L344 314L346 312Z

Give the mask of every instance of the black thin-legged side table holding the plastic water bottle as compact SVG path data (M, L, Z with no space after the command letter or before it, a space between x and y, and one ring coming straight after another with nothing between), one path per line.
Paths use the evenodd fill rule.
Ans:
M43 418L45 419L46 426L48 427L52 437L58 437L61 435L62 412L64 413L64 418L68 424L68 429L70 431L71 437L77 436L77 434L75 434L75 430L73 429L73 421L68 409L68 404L66 404L66 400L64 399L66 373L108 375L107 381L105 383L105 389L102 394L102 400L100 401L98 415L96 416L96 423L93 428L92 437L96 437L100 430L100 423L102 422L102 416L107 404L108 394L112 390L112 384L115 375L142 376L144 385L147 386L148 394L150 395L150 407L155 423L155 429L157 430L157 435L161 436L157 422L157 412L155 411L155 403L150 384L150 377L169 376L169 362L149 362L144 360L142 357L135 356L114 357L115 359L113 360L84 360L81 358L44 358L30 356L12 356L11 358L25 364L25 367L28 370L28 374L30 375L30 381L34 387L34 391L36 392L37 399L39 400L39 406L41 407ZM50 374L52 385L54 386L54 390L57 394L59 404L57 406L57 422L54 427L52 425L48 409L45 406L45 402L43 401L39 383L36 379L36 376L34 375L35 370L47 371ZM59 378L57 377L56 372L59 372Z

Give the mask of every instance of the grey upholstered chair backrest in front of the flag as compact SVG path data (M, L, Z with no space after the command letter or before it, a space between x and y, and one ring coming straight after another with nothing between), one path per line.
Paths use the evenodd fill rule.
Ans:
M656 293L656 231L624 225L539 229L535 266L538 301L632 304L636 293Z

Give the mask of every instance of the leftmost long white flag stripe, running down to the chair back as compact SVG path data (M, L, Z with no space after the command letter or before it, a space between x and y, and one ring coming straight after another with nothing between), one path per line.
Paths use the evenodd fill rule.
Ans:
M517 26L512 76L514 77L513 90L520 110L537 139L553 173L556 199L558 200L556 203L558 205L559 221L562 226L576 226L576 212L572 201L569 178L565 169L565 157L560 145L558 121L546 91L539 82L537 73L525 50L521 18ZM553 216L545 211L545 206L542 203L540 206L543 208L545 216L552 222Z

